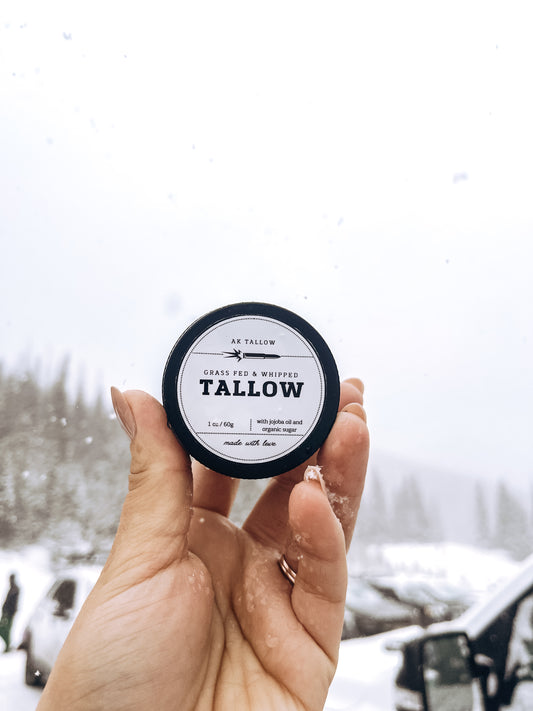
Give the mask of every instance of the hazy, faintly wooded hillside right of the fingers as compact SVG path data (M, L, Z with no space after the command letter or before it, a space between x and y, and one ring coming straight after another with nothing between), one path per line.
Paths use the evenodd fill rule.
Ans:
M358 533L384 540L445 540L532 550L531 492L390 453L371 455ZM370 535L369 535L370 534Z

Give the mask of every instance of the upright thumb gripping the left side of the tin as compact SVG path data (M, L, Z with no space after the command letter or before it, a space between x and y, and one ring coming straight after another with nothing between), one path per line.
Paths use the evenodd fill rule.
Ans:
M130 437L129 490L109 557L145 575L182 560L192 513L188 454L167 426L164 408L139 390L111 389L117 418ZM148 568L148 570L146 569Z

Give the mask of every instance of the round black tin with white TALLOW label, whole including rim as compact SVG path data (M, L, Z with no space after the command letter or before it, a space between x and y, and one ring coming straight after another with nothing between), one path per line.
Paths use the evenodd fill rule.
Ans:
M241 479L298 466L324 442L339 376L322 336L271 304L245 302L193 323L163 375L169 425L207 467Z

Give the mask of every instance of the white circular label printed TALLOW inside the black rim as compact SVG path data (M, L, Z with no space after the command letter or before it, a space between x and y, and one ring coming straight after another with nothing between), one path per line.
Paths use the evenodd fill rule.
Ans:
M203 332L176 382L194 437L213 454L245 464L292 452L324 406L314 349L298 331L264 316L236 316Z

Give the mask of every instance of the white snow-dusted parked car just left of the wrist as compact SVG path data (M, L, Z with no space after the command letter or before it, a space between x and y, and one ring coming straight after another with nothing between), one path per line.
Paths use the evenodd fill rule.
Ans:
M24 630L21 648L26 650L26 684L46 684L54 662L100 568L80 566L59 575L39 602Z

